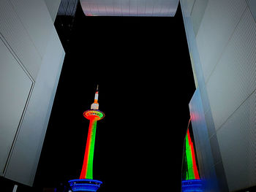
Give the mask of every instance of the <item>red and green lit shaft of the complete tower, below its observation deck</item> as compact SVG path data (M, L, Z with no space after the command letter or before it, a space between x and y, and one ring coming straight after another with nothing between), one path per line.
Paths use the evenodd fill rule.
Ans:
M86 153L83 158L83 168L80 174L80 179L92 180L96 128L97 128L97 118L91 118L87 141L86 141Z

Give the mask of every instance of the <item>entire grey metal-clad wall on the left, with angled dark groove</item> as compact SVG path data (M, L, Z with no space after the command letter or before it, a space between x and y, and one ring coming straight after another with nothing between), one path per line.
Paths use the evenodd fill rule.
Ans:
M0 1L0 175L32 185L64 61L45 1Z

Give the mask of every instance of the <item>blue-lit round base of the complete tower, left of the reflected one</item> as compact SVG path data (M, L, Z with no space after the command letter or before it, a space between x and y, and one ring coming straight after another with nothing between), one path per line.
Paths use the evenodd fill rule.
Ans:
M72 191L97 191L101 184L99 180L69 180Z

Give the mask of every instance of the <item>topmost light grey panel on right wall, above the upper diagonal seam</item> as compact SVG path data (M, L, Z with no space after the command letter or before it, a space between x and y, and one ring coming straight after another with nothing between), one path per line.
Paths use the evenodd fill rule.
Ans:
M208 1L196 39L206 82L245 9L244 0Z

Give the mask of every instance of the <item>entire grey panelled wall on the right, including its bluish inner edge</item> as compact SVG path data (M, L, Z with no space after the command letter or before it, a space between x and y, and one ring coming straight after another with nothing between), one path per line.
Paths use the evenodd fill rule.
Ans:
M255 186L255 1L180 2L220 188Z

